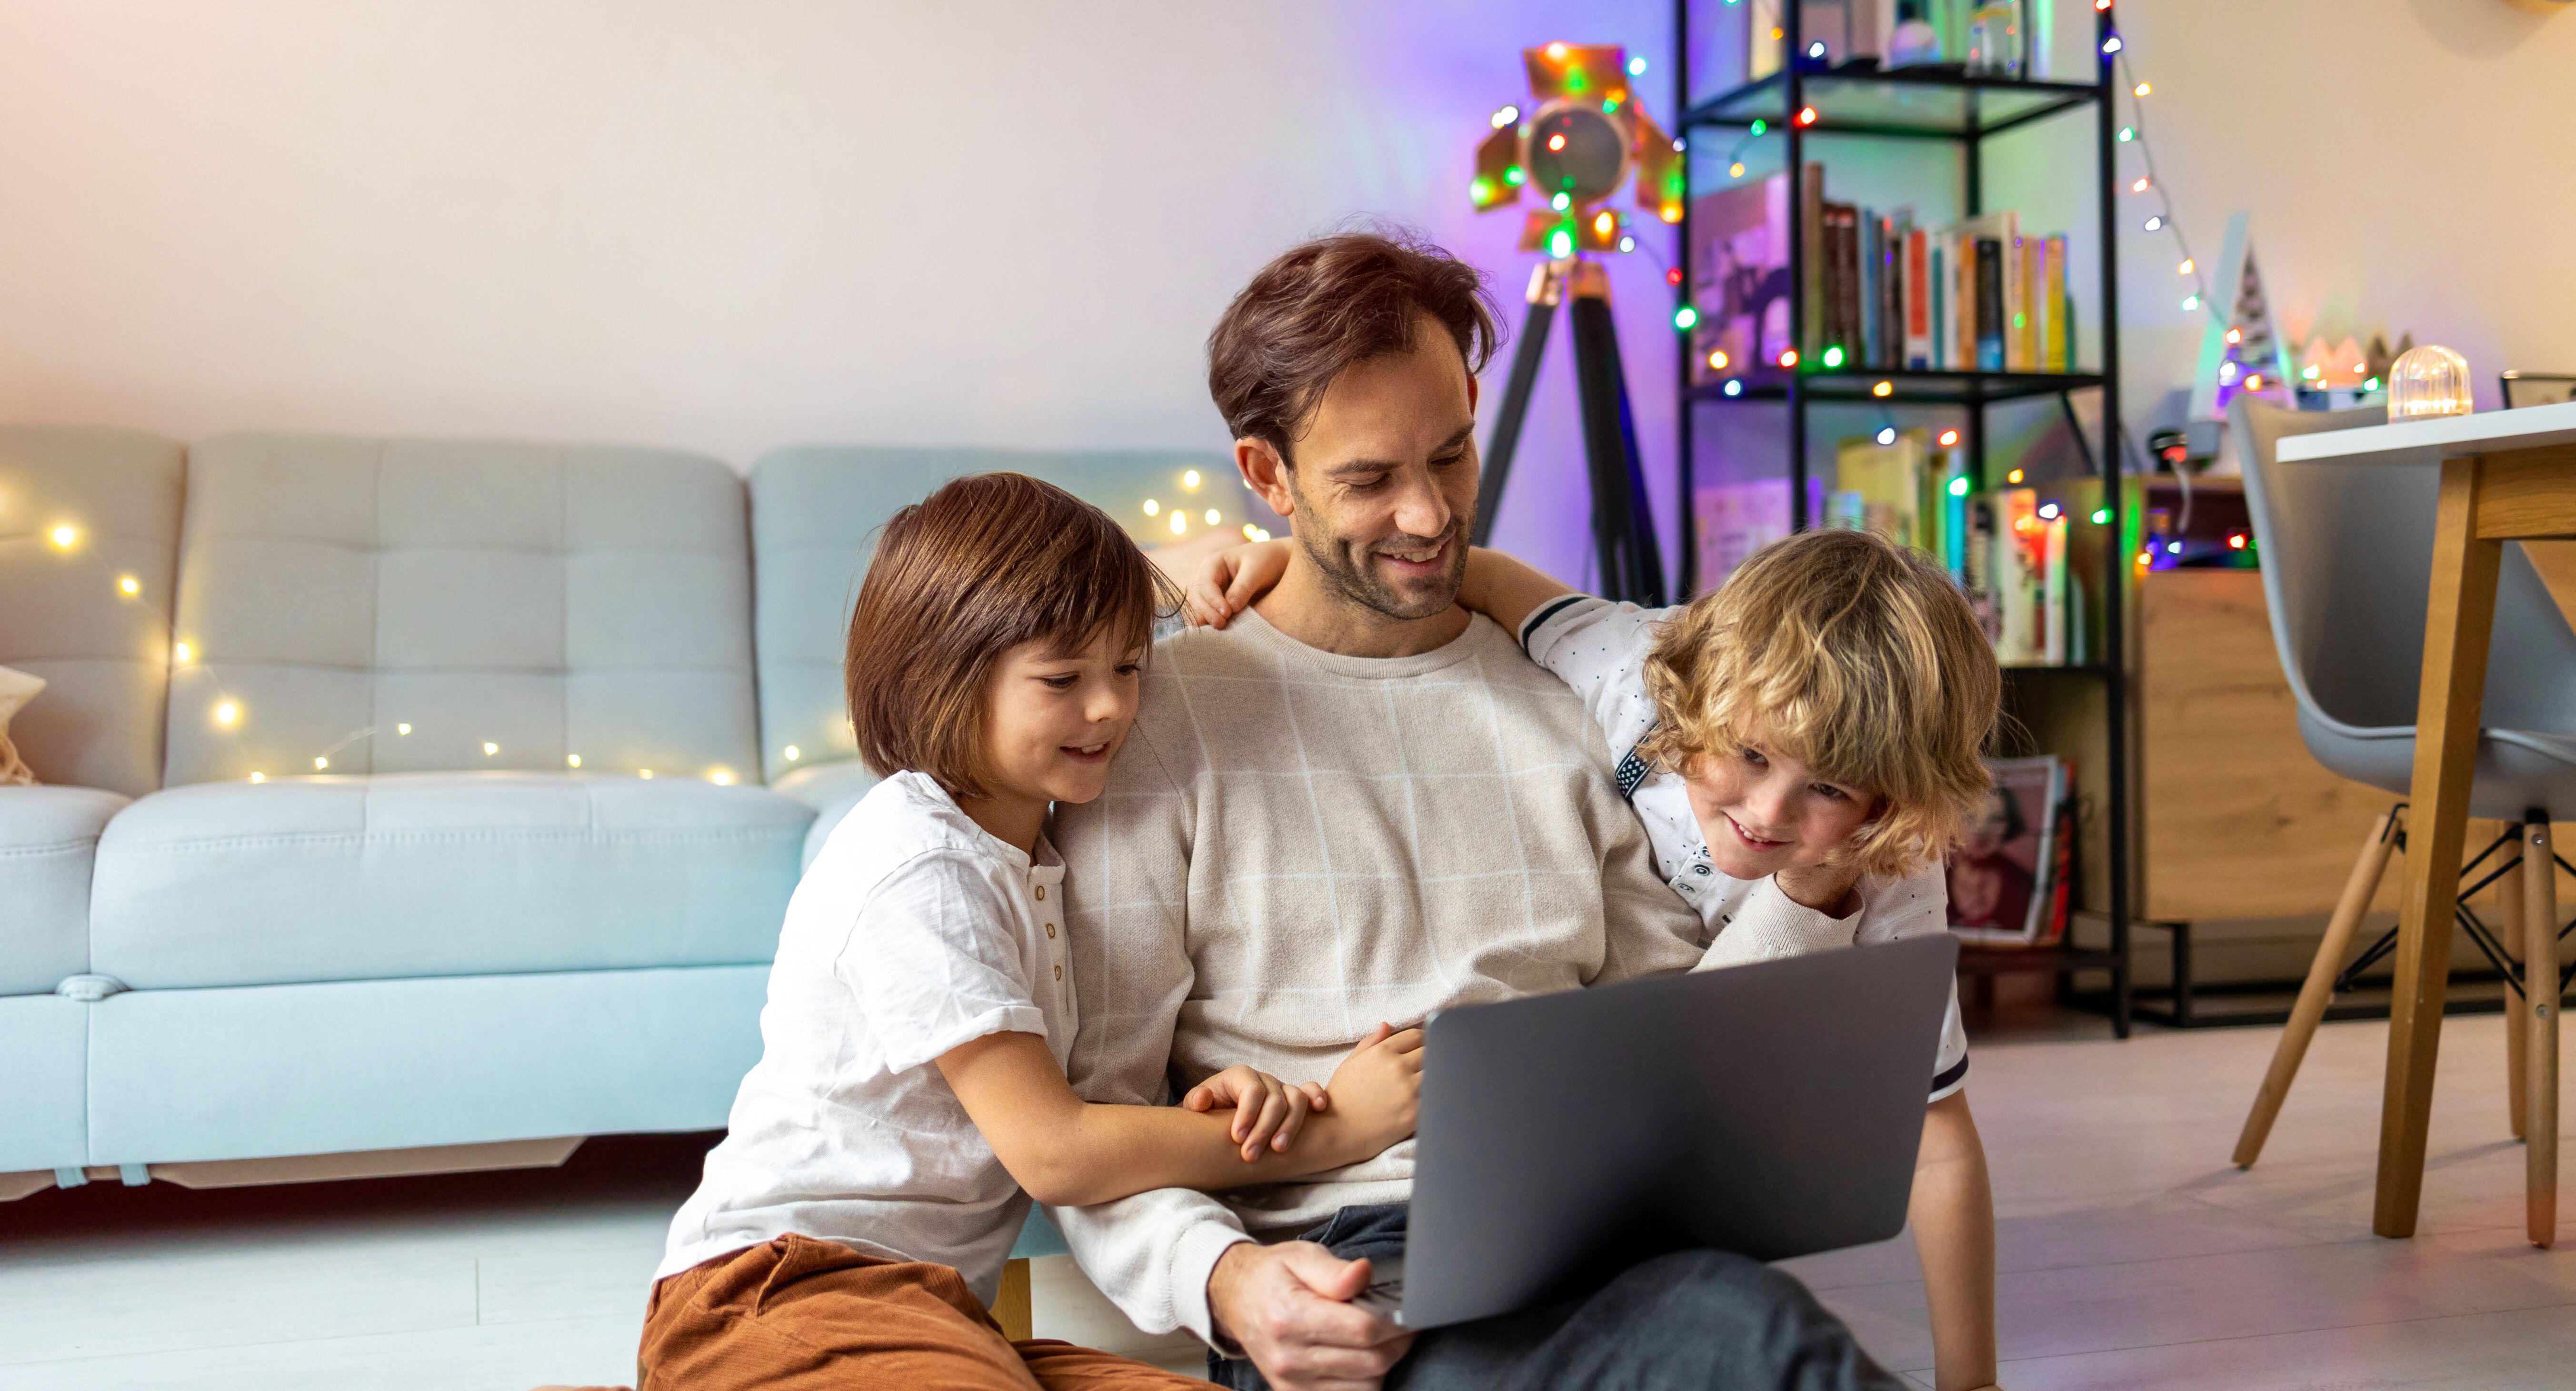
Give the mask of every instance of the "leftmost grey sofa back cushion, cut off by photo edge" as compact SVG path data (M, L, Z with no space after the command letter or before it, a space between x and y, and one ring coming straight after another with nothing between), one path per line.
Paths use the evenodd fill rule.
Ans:
M0 425L0 665L46 680L10 721L36 778L126 796L160 786L178 510L173 440Z

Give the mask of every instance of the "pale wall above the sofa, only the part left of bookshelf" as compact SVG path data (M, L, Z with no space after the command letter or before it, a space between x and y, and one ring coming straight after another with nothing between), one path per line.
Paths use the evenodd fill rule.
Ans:
M1466 183L1520 46L1669 49L1651 0L1564 23L1535 0L8 0L0 417L734 464L1216 448L1218 309L1352 214L1489 268L1517 319L1517 216L1479 219ZM1669 363L1656 270L1620 283ZM1669 461L1669 366L1636 376ZM1574 440L1553 363L1512 489L1538 551L1558 502L1582 515Z

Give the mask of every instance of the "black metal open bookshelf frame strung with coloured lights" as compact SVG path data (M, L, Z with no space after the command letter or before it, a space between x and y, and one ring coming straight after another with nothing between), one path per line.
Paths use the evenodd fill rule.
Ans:
M1718 10L1713 0L1674 0L1674 75L1672 98L1674 111L1682 113L1680 134L1687 144L1698 147L1700 139L1710 142L1741 142L1767 139L1780 144L1783 178L1788 178L1790 196L1785 206L1775 211L1775 219L1785 216L1785 289L1777 291L1788 301L1788 343L1806 345L1806 363L1795 371L1762 368L1739 371L1731 381L1700 381L1703 371L1695 363L1700 350L1690 335L1680 335L1677 348L1677 397L1680 397L1680 466L1677 484L1680 495L1687 500L1682 513L1680 533L1680 580L1685 592L1698 592L1703 577L1698 536L1692 531L1692 515L1698 505L1698 446L1695 422L1703 412L1726 412L1731 407L1744 407L1762 402L1770 410L1785 407L1788 422L1788 525L1803 531L1816 525L1821 518L1814 515L1811 505L1811 469L1808 469L1808 407L1826 404L1842 412L1850 407L1955 407L1965 412L1960 422L1958 451L1965 459L1963 477L1971 487L1984 492L1989 484L2002 479L1989 477L1986 466L1986 407L1999 402L2035 402L2056 397L2063 410L2066 422L2076 430L2076 446L2084 453L2087 474L2079 487L2094 489L2094 502L2081 507L2099 507L2089 513L2084 541L2087 549L2099 544L2092 556L2092 574L2099 592L2099 618L2097 629L2089 631L2081 657L2076 665L2007 665L2007 706L2014 708L2014 721L2030 729L2032 737L2043 739L2045 747L2066 755L2076 765L2076 796L2094 806L2097 817L2092 824L2099 842L2084 847L2079 860L2084 866L2079 873L2081 884L2092 884L2081 894L2084 902L2076 904L2076 917L2092 925L2107 925L2107 943L2094 938L2094 943L2058 943L2040 951L2004 951L1986 953L1973 951L1960 961L1965 971L2056 971L2061 976L2061 994L2074 989L2074 971L2107 974L2110 989L2102 994L2112 1020L2112 1030L2128 1038L2130 1030L2130 881L2133 881L2133 806L2130 806L2130 634L2133 621L2130 605L2136 592L2136 574L2130 564L2130 523L2128 515L2136 507L2130 487L2120 479L2128 474L2120 433L2120 286L2117 286L2117 237L2112 227L2117 222L2117 116L2115 116L2115 62L2102 52L2112 39L2112 21L2107 8L2094 10L2092 26L2092 80L2089 82L2053 82L2053 80L2025 80L2025 77L1971 77L1958 67L1906 67L1906 70L1875 70L1852 67L1829 70L1811 62L1788 62L1783 70L1770 72L1759 80L1747 80L1718 90L1716 95L1698 98L1692 88L1690 62L1692 49L1692 18L1695 10L1710 10L1710 18L1726 23L1744 23L1752 5L1728 5ZM1806 33L1803 15L1806 5L1780 5L1777 21L1780 54L1803 54ZM1747 28L1747 39L1752 39ZM2110 44L2117 49L2117 44ZM1752 52L1749 44L1744 52ZM2084 185L2092 193L2094 227L2099 255L2099 319L2092 330L2099 337L2099 348L2089 355L2079 355L2074 343L2066 345L2063 355L2058 348L2045 353L2020 350L2009 361L2043 361L2043 363L2071 363L2092 361L2092 371L1940 371L1940 368L1888 368L1888 366L1837 366L1821 368L1819 340L1808 330L1816 325L1837 322L1829 312L1832 301L1819 301L1821 278L1811 278L1816 265L1811 255L1821 255L1819 245L1811 242L1814 227L1806 219L1819 216L1816 206L1803 193L1803 170L1808 162L1819 160L1819 149L1806 142L1814 137L1837 137L1829 149L1847 149L1850 139L1886 139L1893 149L1919 152L1924 160L1942 160L1958 170L1958 209L1963 222L1978 219L1986 193L1986 137L2030 126L2048 118L2089 118L2094 167L2092 183ZM1759 124L1759 129L1754 129ZM1744 131L1744 134L1734 134ZM1721 144L1723 147L1723 144ZM2007 147L2009 149L2009 147ZM1731 160L1747 160L1734 155ZM1873 167L1886 167L1888 160L1875 160ZM2081 165L2074 165L2066 178L2081 180ZM1734 175L1741 175L1744 165L1734 165ZM1680 227L1680 255L1674 263L1674 283L1682 294L1692 294L1692 229L1690 216L1698 193L1708 193L1705 185L1692 188L1700 175L1700 157L1692 152L1682 160L1682 227ZM1844 219L1850 209L1844 206ZM1775 222L1777 224L1777 222ZM1826 222L1832 227L1832 222ZM1847 229L1850 222L1842 222ZM2069 237L2079 229L2071 227ZM1723 234L1723 229L1721 229ZM1844 232L1850 237L1850 232ZM1978 237L1986 237L1978 232ZM2050 240L2053 245L2056 240ZM2014 245L2007 237L2007 247ZM1850 240L1844 240L1850 247ZM1844 250L1850 255L1850 250ZM1991 252L1984 252L1991 258ZM2050 252L2056 255L2056 252ZM2069 258L2071 263L2076 258ZM1847 260L1844 260L1847 263ZM1777 263L1772 263L1777 265ZM1824 260L1821 265L1834 265ZM1989 260L1991 265L1991 260ZM2027 263L2025 263L2027 265ZM1984 276L1984 265L1978 268ZM1850 283L1850 281L1844 281ZM1942 283L1935 278L1935 283ZM1989 291L1991 294L1991 291ZM1757 301L1759 304L1759 301ZM1839 301L1839 322L1852 322L1850 299ZM1868 301L1865 301L1868 304ZM1893 304L1893 301L1883 301ZM2056 304L2056 301L2048 301ZM1705 307L1698 307L1703 314ZM1875 309L1870 309L1875 312ZM2020 314L2020 309L2012 309ZM2053 312L2053 309L2050 309ZM2038 319L2038 314L2032 314ZM1757 319L1759 325L1762 319ZM2020 325L2020 319L2014 319ZM1762 340L1765 330L1754 330L1754 340ZM1891 330L1893 332L1893 330ZM1914 330L1906 330L1914 332ZM2030 330L2038 332L2038 330ZM1837 335L1839 337L1839 335ZM1852 343L1852 340L1839 340ZM1875 343L1875 340L1873 340ZM1945 343L1945 340L1942 340ZM2025 340L2027 343L2027 340ZM1978 355L1989 348L1978 343ZM1762 348L1767 361L1770 348ZM1880 355L1870 350L1868 355ZM1896 353L1888 353L1896 355ZM1935 358L1940 361L1940 358ZM1958 358L1950 358L1958 361ZM1880 394L1883 389L1883 394ZM2079 412L2074 407L2076 394L2089 394L2099 402L2099 428L2092 440L2084 438ZM1723 433L1728 440L1741 440L1739 430ZM1734 443L1734 448L1744 448ZM1734 459L1739 461L1739 459ZM1723 471L1728 461L1713 461ZM1775 469L1754 466L1741 477L1780 477ZM2061 479L2063 482L2063 479ZM2020 484L2020 477L2012 477ZM1965 495L1955 495L1965 497ZM2076 546L2069 536L2069 551ZM2074 567L2074 554L2066 556ZM2061 672L2038 675L2038 672ZM2079 842L2081 845L2081 842ZM2092 878L2099 873L2102 878ZM2094 902L2099 899L2099 902ZM2074 925L2069 927L2074 932ZM2097 976L2099 979L2099 976Z

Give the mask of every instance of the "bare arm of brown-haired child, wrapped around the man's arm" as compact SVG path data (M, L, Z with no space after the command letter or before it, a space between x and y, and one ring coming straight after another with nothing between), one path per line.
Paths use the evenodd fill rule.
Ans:
M1414 1133L1422 1030L1378 1025L1334 1069L1324 1108L1301 1131L1255 1149L1239 1115L1208 1115L1226 1087L1193 1087L1185 1105L1090 1105L1036 1033L989 1033L938 1059L966 1115L1030 1198L1087 1208L1154 1188L1236 1188L1358 1164ZM1236 1069L1229 1069L1236 1072ZM1252 1074L1252 1069L1239 1069ZM1224 1074L1221 1074L1224 1077ZM1262 1077L1262 1074L1252 1074ZM1216 1082L1216 1079L1211 1079ZM1231 1087L1242 1095L1242 1087ZM1255 1154L1247 1159L1247 1149Z

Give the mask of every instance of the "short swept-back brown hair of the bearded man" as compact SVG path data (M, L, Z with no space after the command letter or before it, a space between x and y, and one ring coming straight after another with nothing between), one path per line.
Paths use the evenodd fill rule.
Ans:
M1208 394L1239 440L1288 446L1342 368L1409 353L1430 314L1468 376L1494 355L1484 273L1412 232L1337 232L1262 265L1208 332Z

